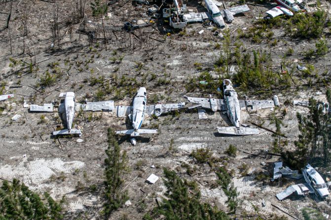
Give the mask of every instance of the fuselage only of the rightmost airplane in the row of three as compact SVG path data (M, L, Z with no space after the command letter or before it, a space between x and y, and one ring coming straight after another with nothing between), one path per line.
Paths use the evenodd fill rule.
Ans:
M226 112L232 124L240 128L240 104L236 91L233 89L229 79L223 80L224 102L226 104Z

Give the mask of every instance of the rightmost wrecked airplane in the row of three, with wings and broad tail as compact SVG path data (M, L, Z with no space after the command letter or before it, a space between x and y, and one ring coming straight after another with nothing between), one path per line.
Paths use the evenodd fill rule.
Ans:
M223 80L223 95L224 99L184 97L189 102L200 104L202 108L211 109L213 112L226 111L227 116L234 126L218 127L217 129L221 134L230 135L258 134L257 128L241 127L241 110L272 108L280 105L277 95L274 95L273 100L238 100L238 95L229 79Z

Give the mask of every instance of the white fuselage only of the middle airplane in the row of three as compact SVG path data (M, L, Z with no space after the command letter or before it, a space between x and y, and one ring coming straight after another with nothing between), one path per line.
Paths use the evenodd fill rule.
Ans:
M143 124L146 113L147 93L146 88L141 87L133 99L132 106L132 126L137 131Z

